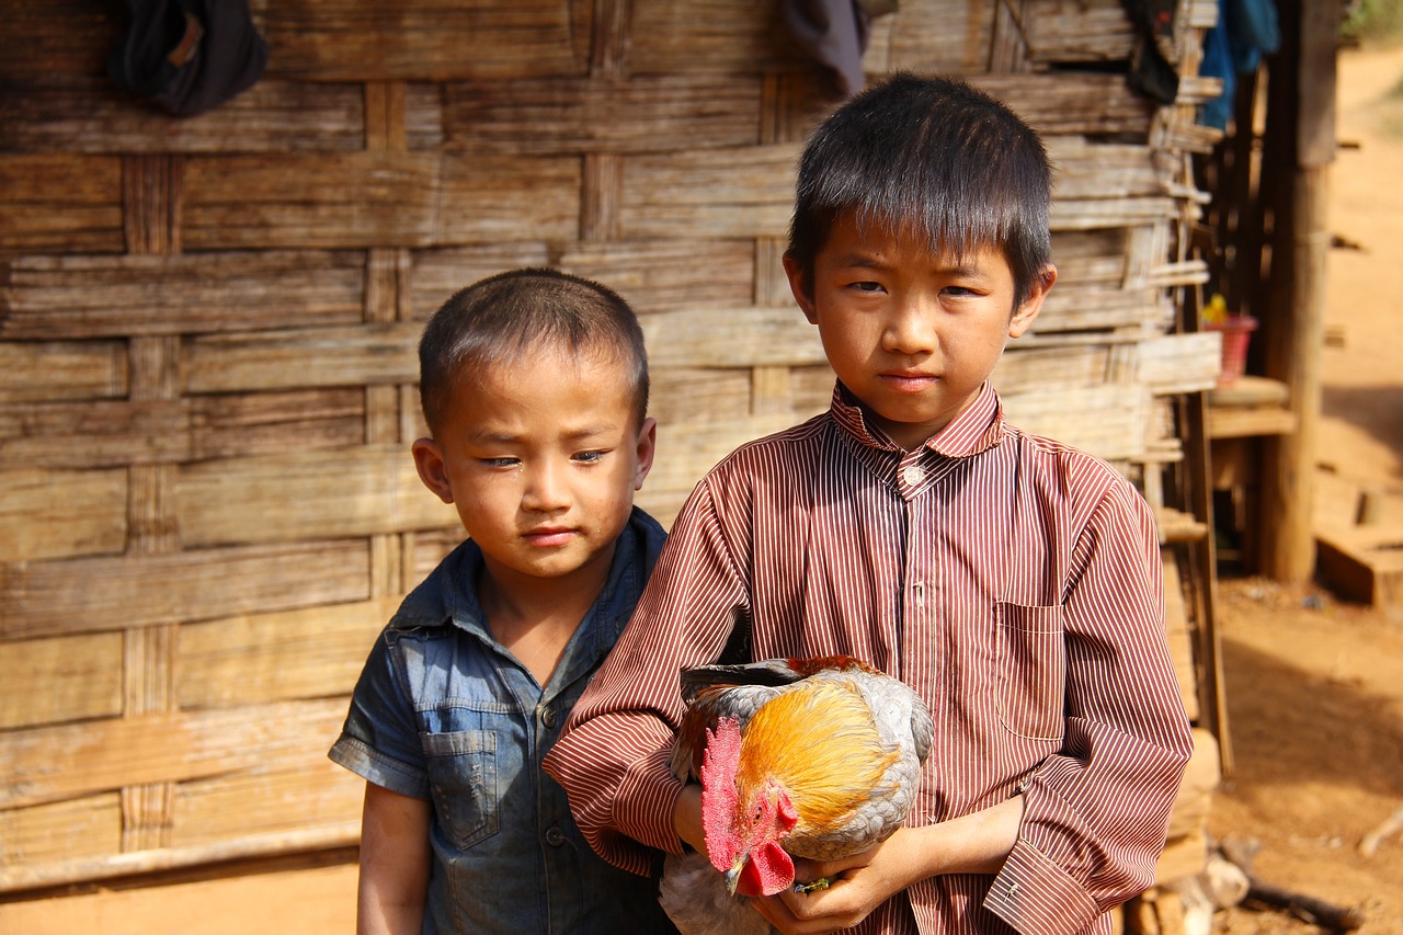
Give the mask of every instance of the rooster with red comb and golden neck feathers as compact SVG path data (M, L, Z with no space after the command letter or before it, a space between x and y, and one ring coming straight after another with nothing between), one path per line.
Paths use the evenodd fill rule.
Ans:
M703 665L671 769L702 783L707 856L669 856L659 901L683 935L772 931L749 896L794 882L794 856L835 861L901 827L930 752L930 712L904 682L846 656Z

